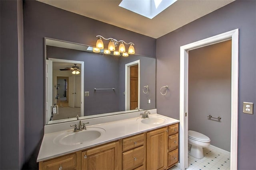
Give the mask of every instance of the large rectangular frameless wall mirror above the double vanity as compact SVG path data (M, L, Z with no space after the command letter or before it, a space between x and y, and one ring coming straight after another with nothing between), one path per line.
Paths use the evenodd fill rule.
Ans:
M45 38L45 123L156 107L156 59Z

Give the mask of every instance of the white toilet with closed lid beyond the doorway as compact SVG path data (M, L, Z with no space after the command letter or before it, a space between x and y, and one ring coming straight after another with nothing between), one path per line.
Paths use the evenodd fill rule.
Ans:
M188 143L191 144L189 154L195 158L202 159L204 157L203 148L210 146L210 138L206 135L196 132L188 131Z

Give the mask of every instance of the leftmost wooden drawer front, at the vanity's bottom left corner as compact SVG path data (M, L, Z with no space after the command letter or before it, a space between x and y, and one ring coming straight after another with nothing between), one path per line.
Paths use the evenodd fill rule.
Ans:
M62 167L62 170L75 170L76 153L42 162L43 170L58 170L60 167Z

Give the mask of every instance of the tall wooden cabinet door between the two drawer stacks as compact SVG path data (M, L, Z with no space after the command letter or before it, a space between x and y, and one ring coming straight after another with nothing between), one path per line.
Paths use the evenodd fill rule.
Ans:
M147 133L147 170L167 167L167 127Z

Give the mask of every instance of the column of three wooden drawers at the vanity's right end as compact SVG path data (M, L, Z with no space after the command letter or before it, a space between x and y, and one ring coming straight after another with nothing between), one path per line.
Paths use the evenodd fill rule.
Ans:
M179 123L168 126L168 167L178 162Z

